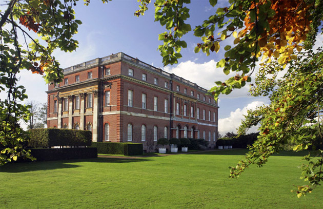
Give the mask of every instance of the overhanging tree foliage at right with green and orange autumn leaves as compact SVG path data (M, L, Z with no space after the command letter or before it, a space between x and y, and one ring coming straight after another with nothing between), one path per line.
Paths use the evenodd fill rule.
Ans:
M150 0L141 0L135 15L143 15ZM209 1L215 6L217 0ZM167 32L159 34L159 46L164 65L175 64L181 57L181 40L191 30L186 24L189 0L157 0L155 21L165 26ZM250 164L263 166L268 157L287 141L295 143L294 150L307 149L313 141L320 141L319 158L305 156L302 178L308 185L297 186L297 197L306 195L323 180L323 147L321 134L323 52L313 49L323 20L323 1L320 0L229 0L229 5L217 8L194 35L202 42L195 52L207 55L218 52L223 41L232 39L224 47L225 57L217 63L225 74L236 72L226 81L217 81L210 89L217 99L220 93L229 94L236 88L252 82L251 75L259 63L260 69L250 84L253 96L268 96L271 104L249 111L239 132L260 123L260 135L251 146L246 158L231 167L230 177L238 177ZM220 32L216 35L216 30ZM223 46L222 46L223 47ZM285 70L284 70L285 69ZM284 71L283 71L284 70ZM277 74L284 73L282 78Z

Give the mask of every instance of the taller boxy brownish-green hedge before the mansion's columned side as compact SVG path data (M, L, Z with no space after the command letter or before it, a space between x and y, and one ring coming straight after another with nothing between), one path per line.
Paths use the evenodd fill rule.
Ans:
M89 130L37 128L32 129L28 147L90 146L92 132Z

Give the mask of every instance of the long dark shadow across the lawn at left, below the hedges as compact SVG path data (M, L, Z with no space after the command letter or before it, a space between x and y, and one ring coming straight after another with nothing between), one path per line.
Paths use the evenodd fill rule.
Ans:
M93 163L132 163L150 161L148 159L127 159L127 158L93 158L77 160L59 160L59 161L42 161L42 162L25 162L25 163L8 163L0 167L0 173L21 173L32 172L36 170L54 170L65 168L76 168L84 165L74 165L69 163L93 162Z

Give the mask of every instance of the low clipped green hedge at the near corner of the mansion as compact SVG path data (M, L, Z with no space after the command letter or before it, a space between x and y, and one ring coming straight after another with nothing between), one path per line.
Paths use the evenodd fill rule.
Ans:
M143 144L118 142L92 142L99 154L109 155L143 155Z

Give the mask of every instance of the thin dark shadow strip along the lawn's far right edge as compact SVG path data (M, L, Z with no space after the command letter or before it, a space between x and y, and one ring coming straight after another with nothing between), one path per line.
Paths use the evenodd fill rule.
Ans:
M190 153L191 155L246 155L249 149L216 149L214 151L207 151L205 153ZM298 151L285 151L280 150L279 153L275 153L272 156L290 156L290 157L302 157L311 153L311 156L316 156L315 151L303 150Z

